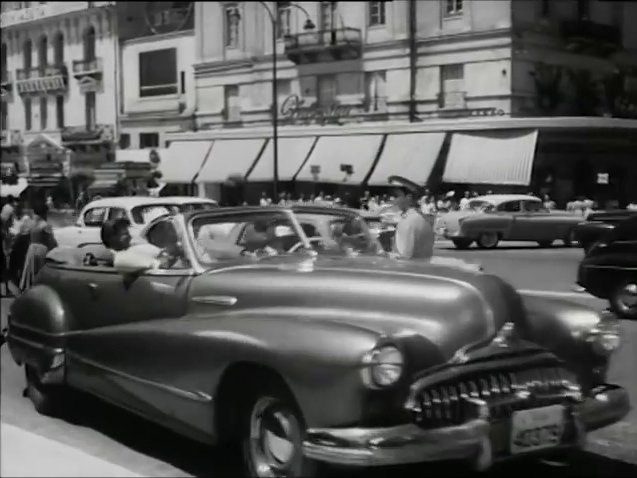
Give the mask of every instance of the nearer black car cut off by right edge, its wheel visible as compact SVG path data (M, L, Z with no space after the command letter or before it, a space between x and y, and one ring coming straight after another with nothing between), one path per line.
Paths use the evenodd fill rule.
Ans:
M582 260L577 283L610 302L626 319L637 319L637 215L620 222Z

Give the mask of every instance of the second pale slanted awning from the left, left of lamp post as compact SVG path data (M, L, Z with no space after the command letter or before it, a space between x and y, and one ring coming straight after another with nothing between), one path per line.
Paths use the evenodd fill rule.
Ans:
M218 139L197 176L200 183L223 183L245 177L263 149L265 139Z

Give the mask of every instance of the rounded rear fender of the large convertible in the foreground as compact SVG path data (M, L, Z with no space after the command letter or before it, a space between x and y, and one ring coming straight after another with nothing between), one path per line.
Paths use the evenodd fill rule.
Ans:
M65 332L72 317L57 292L38 284L11 306L7 344L18 364L27 363L43 375L45 383L64 380Z

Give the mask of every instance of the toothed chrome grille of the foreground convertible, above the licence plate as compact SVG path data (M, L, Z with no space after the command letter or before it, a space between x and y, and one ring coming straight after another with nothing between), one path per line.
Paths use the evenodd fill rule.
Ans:
M561 367L467 374L418 390L412 411L424 428L461 424L471 417L467 404L483 402L492 420L516 410L563 402L577 396L576 377Z

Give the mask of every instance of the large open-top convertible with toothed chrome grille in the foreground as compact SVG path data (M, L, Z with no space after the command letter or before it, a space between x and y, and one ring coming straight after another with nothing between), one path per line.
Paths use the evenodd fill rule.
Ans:
M629 410L606 383L612 314L388 258L350 210L220 208L156 218L143 236L163 268L55 250L13 303L7 342L39 411L81 389L241 443L250 476L302 477L325 464L485 469L577 449Z

